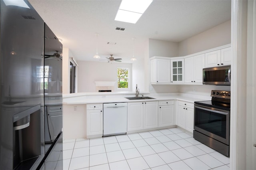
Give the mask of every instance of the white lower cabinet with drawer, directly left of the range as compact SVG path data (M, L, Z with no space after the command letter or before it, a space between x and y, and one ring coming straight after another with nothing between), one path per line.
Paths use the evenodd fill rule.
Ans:
M178 126L189 132L194 130L194 103L178 101Z

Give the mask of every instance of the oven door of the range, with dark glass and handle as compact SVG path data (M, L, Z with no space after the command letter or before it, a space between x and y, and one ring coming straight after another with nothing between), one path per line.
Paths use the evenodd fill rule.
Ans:
M229 145L230 111L195 104L194 129Z

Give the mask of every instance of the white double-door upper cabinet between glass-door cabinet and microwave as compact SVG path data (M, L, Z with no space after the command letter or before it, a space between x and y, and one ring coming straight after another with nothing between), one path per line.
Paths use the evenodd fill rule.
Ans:
M205 55L185 58L185 83L202 83Z

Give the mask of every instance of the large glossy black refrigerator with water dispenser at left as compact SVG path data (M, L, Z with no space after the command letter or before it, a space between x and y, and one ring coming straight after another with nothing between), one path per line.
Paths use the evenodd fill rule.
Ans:
M54 59L54 53L45 53L46 39L44 21L27 0L0 0L1 170L62 169L61 130L45 141L46 124L49 125L45 121L45 101L51 97L58 100L58 115L61 114L59 122L54 120L51 125L62 128L62 76L54 77L54 71L62 73L62 64L45 71L46 59ZM58 53L62 53L60 49L62 45L56 48ZM57 58L61 62L61 57ZM55 67L50 63L48 68L49 65ZM47 73L52 76L46 76ZM53 91L58 96L48 93L48 84L56 87L51 81L58 82L59 91ZM53 152L58 158L49 159Z

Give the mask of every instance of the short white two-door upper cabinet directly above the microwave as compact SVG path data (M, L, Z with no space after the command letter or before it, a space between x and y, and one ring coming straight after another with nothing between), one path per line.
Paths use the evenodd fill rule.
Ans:
M231 47L205 53L205 67L231 64Z

